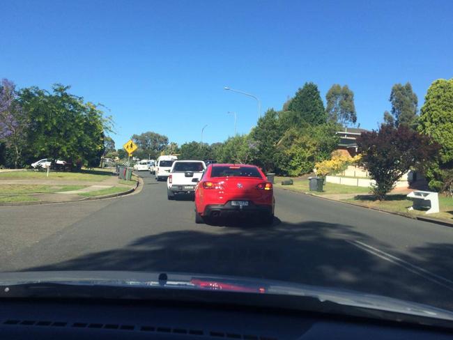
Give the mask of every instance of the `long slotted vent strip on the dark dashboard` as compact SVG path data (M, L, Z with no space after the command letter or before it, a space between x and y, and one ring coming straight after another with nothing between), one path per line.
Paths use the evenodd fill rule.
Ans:
M115 323L82 323L82 322L62 322L49 320L6 320L3 325L16 325L24 327L75 327L75 328L90 328L98 330L124 330L136 332L157 332L178 335L197 335L198 337L208 338L225 338L225 339L241 339L241 340L278 340L275 337L263 337L254 334L237 334L231 332L222 332L217 330L197 330L182 327L164 327L151 325L120 325Z

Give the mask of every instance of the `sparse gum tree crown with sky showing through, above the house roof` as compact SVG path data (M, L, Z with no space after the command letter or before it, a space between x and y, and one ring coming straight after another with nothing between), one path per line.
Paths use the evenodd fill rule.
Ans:
M339 123L342 126L355 124L357 114L355 113L354 93L347 85L341 87L333 84L325 95L327 107L325 109L328 121Z

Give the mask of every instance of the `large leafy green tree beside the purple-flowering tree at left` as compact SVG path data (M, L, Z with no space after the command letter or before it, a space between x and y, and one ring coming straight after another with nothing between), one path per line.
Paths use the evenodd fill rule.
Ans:
M55 84L50 92L38 87L20 91L20 105L30 121L28 152L32 157L68 160L78 167L97 166L112 120L99 105L84 102L70 94L69 88Z

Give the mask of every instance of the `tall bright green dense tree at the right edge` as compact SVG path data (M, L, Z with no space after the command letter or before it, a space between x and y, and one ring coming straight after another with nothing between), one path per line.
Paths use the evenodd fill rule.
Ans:
M429 186L453 192L453 78L438 79L428 88L418 130L440 145L438 158L427 169Z

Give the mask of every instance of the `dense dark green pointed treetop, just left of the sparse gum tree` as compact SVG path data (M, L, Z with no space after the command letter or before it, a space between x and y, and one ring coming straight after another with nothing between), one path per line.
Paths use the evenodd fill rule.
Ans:
M299 88L289 103L288 110L297 112L300 115L300 121L310 125L323 124L327 121L318 86L311 82Z

